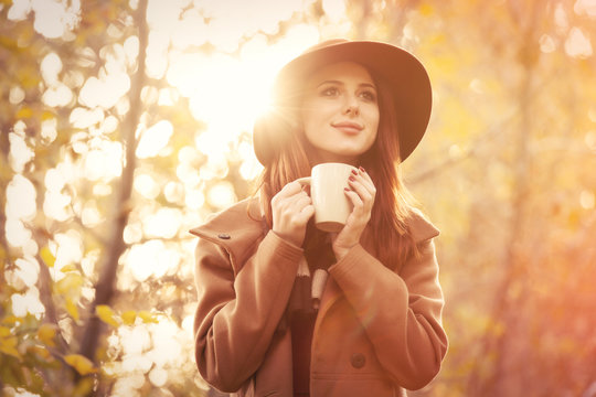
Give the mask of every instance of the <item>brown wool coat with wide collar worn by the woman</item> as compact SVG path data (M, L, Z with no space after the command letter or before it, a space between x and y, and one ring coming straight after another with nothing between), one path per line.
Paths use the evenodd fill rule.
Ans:
M291 335L278 323L302 250L252 217L260 219L257 202L243 201L191 230L201 237L196 365L222 391L291 397ZM408 226L422 255L398 273L365 243L329 268L312 336L312 397L405 396L438 373L447 351L438 230L418 215Z

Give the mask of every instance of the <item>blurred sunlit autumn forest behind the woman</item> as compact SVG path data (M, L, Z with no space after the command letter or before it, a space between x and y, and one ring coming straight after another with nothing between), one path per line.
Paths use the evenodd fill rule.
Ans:
M450 346L413 396L596 396L596 1L1 0L0 394L214 396L188 229L249 195L275 72L401 45Z

